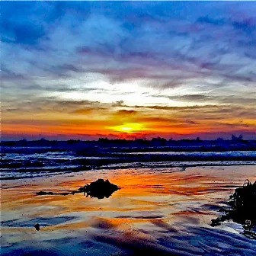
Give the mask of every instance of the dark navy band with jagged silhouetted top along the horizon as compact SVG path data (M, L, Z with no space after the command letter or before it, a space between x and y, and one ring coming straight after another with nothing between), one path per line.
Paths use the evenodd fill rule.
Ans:
M245 140L242 136L232 139L201 140L197 139L107 139L101 138L93 141L82 141L70 139L67 141L57 140L34 140L1 142L0 146L25 147L29 148L49 147L48 151L73 151L85 152L87 155L95 155L106 152L225 152L225 151L254 151L256 150L256 140ZM5 149L3 149L5 152ZM35 149L34 149L35 150ZM38 149L40 151L40 149Z

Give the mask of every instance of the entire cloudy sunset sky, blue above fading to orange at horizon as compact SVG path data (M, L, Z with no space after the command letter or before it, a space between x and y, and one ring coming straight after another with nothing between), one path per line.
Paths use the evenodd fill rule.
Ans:
M0 2L2 140L256 139L256 2Z

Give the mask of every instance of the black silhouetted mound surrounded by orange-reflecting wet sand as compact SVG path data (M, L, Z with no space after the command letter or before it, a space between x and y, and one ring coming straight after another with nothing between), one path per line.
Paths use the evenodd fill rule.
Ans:
M119 187L110 183L108 180L98 179L97 181L91 182L91 184L80 187L78 190L84 192L87 197L103 199L104 197L110 197L115 191L119 190Z

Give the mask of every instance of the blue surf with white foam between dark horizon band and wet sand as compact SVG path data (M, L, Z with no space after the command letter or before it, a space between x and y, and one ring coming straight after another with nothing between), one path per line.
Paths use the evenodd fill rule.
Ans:
M50 147L2 147L0 179L46 177L92 169L174 168L205 165L256 165L256 151L112 152L79 155ZM157 150L157 149L155 149Z

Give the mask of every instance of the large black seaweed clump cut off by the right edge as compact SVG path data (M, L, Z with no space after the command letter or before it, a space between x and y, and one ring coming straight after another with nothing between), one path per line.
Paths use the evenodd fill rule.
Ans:
M245 184L230 196L228 204L230 208L224 210L222 216L212 219L211 226L219 226L221 222L232 219L244 226L245 235L256 238L256 181L251 184L245 180Z

